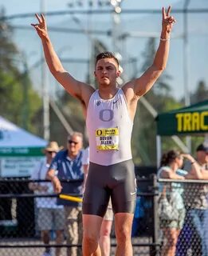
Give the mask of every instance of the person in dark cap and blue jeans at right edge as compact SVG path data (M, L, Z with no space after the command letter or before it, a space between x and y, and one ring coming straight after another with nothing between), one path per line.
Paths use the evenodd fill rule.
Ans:
M187 179L208 179L207 157L208 148L199 145L196 149L197 160L191 161L191 170ZM193 168L195 166L195 168ZM177 243L177 256L192 255L206 256L205 223L207 212L207 184L187 182L184 187L184 203L186 218Z

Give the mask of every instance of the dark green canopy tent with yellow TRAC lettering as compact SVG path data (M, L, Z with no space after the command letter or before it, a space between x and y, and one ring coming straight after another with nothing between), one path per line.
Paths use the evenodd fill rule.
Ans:
M158 114L157 162L161 158L161 136L208 133L208 100Z

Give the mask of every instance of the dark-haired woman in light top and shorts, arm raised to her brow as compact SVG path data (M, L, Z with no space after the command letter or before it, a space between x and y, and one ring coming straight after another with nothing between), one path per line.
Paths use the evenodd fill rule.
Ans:
M183 158L194 161L190 154L181 154L170 150L163 154L158 178L184 179L187 174L181 170ZM182 202L182 186L177 182L170 182L168 185L160 184L161 196L159 198L159 221L163 230L164 244L163 256L175 256L176 242L185 217L185 207Z

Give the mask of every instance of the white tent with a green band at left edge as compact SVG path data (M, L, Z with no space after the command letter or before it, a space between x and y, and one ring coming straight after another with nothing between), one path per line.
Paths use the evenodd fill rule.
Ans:
M0 116L0 177L27 177L47 142Z

